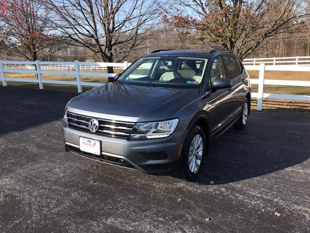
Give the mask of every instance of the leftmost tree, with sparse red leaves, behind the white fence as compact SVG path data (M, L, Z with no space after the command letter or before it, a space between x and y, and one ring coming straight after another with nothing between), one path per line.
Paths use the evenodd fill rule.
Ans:
M0 19L7 35L4 46L12 54L30 61L38 60L41 54L40 59L46 60L59 47L52 33L50 13L42 4L33 0L2 0ZM50 47L53 49L47 50Z

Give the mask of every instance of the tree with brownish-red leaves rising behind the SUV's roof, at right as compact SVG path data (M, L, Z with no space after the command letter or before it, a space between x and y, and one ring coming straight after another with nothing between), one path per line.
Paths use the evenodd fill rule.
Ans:
M176 0L190 10L166 17L193 43L234 51L242 59L267 38L297 33L309 17L302 0ZM194 30L194 31L193 31Z

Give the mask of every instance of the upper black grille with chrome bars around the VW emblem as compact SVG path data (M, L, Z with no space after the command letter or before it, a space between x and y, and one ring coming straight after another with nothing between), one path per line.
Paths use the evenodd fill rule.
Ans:
M79 128L84 131L92 133L88 128L89 121L93 119L90 116L82 116L75 113L68 112L68 124L70 127ZM132 132L132 129L135 123L125 122L125 121L116 121L108 119L98 119L99 128L96 134L107 135L112 137L122 137L128 138L129 134Z

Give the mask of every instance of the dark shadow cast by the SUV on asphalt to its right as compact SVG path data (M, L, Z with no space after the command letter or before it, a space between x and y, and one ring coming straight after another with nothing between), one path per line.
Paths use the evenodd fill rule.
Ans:
M281 127L266 130L254 124L248 125L244 131L232 127L211 142L195 182L209 185L233 183L270 174L310 158L307 130L279 131Z

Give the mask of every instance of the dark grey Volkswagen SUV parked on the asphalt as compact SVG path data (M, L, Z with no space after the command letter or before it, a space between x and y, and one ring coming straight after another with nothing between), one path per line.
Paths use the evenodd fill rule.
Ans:
M225 50L160 50L65 108L65 150L144 173L196 178L209 143L245 128L249 77Z

